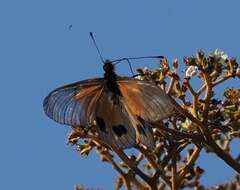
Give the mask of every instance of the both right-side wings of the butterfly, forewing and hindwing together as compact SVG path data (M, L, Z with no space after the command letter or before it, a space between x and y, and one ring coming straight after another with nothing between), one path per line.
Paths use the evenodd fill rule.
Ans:
M124 106L132 116L137 140L153 149L155 141L150 122L165 119L174 112L168 95L149 81L119 77L118 83L123 94Z

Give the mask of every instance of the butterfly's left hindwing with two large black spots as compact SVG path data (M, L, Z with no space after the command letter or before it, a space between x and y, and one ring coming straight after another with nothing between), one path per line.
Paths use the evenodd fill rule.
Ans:
M136 144L136 131L131 117L122 105L121 97L115 104L112 93L105 89L96 107L96 124L100 138L118 148L130 148Z

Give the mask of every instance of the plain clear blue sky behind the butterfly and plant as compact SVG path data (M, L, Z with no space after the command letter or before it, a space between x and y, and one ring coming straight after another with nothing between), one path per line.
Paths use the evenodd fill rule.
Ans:
M69 129L42 109L54 88L102 75L90 31L105 58L182 60L199 48L239 58L239 7L239 1L219 0L1 0L0 189L113 188L111 167L96 154L80 157L66 145ZM130 74L124 64L118 72ZM205 184L233 175L214 155L200 163L208 169Z

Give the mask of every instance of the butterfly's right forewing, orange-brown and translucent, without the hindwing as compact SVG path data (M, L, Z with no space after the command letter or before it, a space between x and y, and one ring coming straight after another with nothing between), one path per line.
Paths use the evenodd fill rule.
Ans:
M146 121L159 121L174 112L168 95L149 81L122 77L118 80L124 105L129 111Z

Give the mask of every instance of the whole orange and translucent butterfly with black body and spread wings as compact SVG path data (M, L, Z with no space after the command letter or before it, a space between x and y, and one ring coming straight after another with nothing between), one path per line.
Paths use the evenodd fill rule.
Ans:
M104 77L62 86L44 99L46 115L70 126L95 123L100 139L110 147L131 148L141 143L155 145L152 122L169 117L174 107L155 83L115 73L106 60Z

